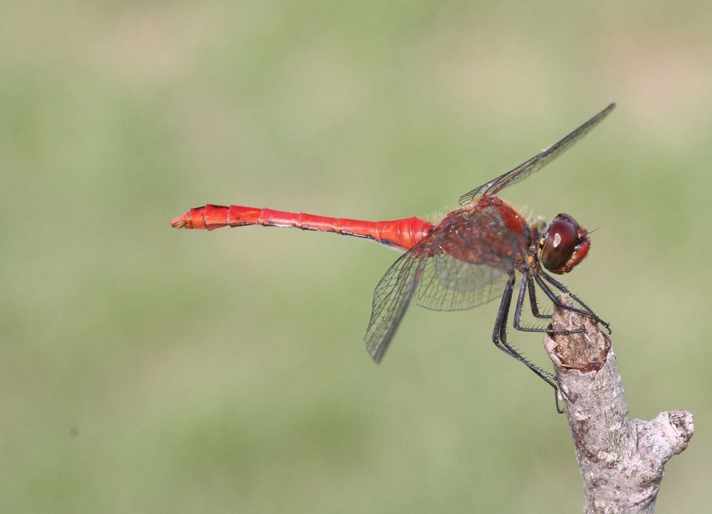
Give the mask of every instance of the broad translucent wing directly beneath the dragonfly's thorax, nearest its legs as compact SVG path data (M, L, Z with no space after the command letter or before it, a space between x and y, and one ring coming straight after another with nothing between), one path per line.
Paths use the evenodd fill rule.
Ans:
M438 254L426 260L415 302L434 311L472 309L502 296L507 274Z

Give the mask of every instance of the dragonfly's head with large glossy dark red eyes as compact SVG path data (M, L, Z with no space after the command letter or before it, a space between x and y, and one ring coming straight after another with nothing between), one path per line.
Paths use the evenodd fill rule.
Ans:
M587 234L570 215L557 215L539 241L540 262L552 273L570 272L591 247Z

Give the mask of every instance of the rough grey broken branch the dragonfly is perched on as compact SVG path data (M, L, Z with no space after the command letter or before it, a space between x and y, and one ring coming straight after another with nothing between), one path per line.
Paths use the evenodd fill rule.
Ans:
M565 309L554 309L552 326L585 328L544 339L565 392L585 513L652 513L665 463L692 437L692 414L674 410L651 421L630 419L610 339L588 316Z

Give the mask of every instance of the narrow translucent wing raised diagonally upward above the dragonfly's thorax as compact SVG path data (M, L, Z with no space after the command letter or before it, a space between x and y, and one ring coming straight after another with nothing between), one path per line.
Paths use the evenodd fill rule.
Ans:
M511 184L521 181L524 178L530 176L535 171L540 170L540 168L543 168L544 166L549 164L551 161L553 161L562 153L564 153L564 151L570 148L570 146L572 146L576 141L588 134L591 129L593 129L593 127L595 127L602 121L602 119L604 119L604 117L608 116L608 114L614 109L614 107L616 107L615 104L609 105L601 112L596 114L594 117L589 119L587 122L585 122L585 124L582 124L581 127L578 127L577 129L575 129L575 131L571 132L571 134L565 136L564 139L562 139L561 141L557 141L553 145L549 146L547 149L543 150L540 154L535 155L528 161L523 162L522 164L514 168L512 171L508 171L507 173L504 173L503 175L500 175L497 178L493 178L488 183L485 183L482 186L479 186L478 188L475 188L472 191L465 193L463 196L460 197L460 205L470 203L478 195L496 195L503 188L511 186Z

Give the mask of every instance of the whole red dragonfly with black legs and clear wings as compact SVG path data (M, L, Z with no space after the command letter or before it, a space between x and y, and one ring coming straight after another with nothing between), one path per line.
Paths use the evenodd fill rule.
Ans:
M610 331L608 323L542 268L553 274L570 272L586 257L591 242L585 228L570 215L559 214L548 225L541 220L527 220L497 195L560 156L599 124L614 107L615 104L609 105L512 171L465 193L460 198L462 207L453 210L437 224L417 217L362 221L240 205L204 205L189 210L170 224L176 228L207 230L244 225L296 227L366 237L404 250L374 291L371 320L365 335L373 360L378 363L383 358L412 299L435 311L455 311L471 309L500 297L492 341L504 353L527 365L558 390L554 375L520 355L507 340L507 318L515 279L519 272L522 277L513 321L516 330L570 333L522 324L522 309L527 296L535 318L551 317L539 310L536 298L538 286L553 304L590 316ZM562 304L555 291L570 294L575 305Z

